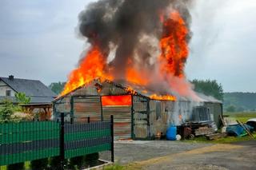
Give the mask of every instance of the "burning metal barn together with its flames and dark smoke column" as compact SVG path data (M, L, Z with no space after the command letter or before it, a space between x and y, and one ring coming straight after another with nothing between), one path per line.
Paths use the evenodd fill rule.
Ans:
M170 123L193 119L205 107L218 122L222 104L205 100L186 80L190 0L102 0L79 14L90 47L54 101L54 117L75 121L114 115L119 138L150 138ZM195 107L197 106L197 107Z

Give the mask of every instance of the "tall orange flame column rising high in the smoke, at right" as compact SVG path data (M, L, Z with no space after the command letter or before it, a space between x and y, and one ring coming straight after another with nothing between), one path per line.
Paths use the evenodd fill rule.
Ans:
M188 30L180 14L174 11L163 22L163 34L160 40L162 50L159 60L162 73L171 74L175 77L184 77L184 66L188 56L186 38Z

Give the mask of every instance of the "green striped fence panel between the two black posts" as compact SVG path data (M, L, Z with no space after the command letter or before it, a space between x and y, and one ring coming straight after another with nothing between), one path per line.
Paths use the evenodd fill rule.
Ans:
M64 125L65 158L112 151L111 121Z

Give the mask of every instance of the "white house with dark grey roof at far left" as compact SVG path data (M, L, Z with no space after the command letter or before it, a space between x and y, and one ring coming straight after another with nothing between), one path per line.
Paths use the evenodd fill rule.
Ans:
M25 93L30 97L30 104L51 104L57 94L38 80L14 78L14 76L0 77L0 102L7 98L16 103L15 93Z

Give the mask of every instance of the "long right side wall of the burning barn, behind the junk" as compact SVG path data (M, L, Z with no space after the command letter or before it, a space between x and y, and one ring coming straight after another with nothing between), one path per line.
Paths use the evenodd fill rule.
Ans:
M160 106L160 109L157 109ZM150 101L150 136L159 133L166 134L170 125L181 125L192 118L192 110L196 105L204 105L209 109L216 125L220 126L219 115L222 115L222 104L201 103L195 104L190 101ZM158 110L158 111L157 111ZM160 111L160 114L158 113Z

